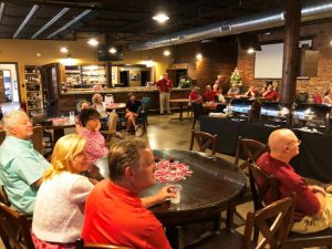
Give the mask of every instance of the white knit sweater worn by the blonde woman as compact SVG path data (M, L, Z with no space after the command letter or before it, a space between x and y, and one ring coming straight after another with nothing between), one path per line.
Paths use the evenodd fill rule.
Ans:
M74 242L81 236L84 205L93 185L80 175L62 173L40 186L32 231L44 241Z

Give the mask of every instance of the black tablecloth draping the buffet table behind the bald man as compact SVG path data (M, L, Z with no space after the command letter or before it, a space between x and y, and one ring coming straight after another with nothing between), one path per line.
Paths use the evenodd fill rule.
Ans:
M201 116L200 129L218 135L217 152L235 155L237 138L252 138L267 144L271 132L281 127L267 126L263 123L237 122L229 118ZM331 183L331 134L317 134L293 129L301 139L300 154L291 160L293 168L303 177Z

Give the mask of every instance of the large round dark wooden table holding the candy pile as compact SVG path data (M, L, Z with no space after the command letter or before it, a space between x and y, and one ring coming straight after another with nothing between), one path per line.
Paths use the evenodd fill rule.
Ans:
M177 149L154 149L159 158L174 157L190 166L194 172L183 186L180 204L165 201L151 210L166 227L166 235L174 249L178 248L178 227L210 219L240 200L246 190L246 176L239 168L218 157L203 153ZM145 189L142 196L156 194L164 185Z

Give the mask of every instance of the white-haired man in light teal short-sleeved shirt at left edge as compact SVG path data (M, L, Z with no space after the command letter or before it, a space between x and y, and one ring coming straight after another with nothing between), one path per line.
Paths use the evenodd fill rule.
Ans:
M11 205L31 215L41 177L50 163L33 149L33 126L27 113L8 113L2 124L7 136L0 146L0 184Z

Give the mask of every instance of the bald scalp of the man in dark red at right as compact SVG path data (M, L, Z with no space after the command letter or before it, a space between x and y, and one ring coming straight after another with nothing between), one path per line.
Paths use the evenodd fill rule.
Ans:
M269 147L271 152L282 152L284 146L297 142L295 134L288 128L280 128L271 133L269 136Z

